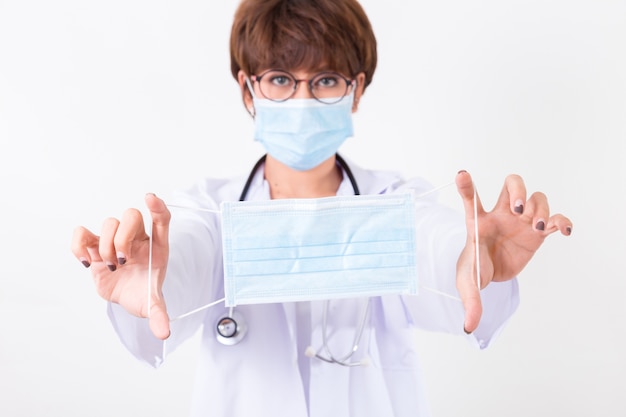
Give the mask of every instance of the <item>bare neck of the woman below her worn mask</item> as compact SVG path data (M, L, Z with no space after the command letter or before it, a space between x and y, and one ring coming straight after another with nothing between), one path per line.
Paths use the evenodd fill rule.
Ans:
M337 195L343 174L334 155L308 171L296 171L267 155L265 179L272 199L318 198Z

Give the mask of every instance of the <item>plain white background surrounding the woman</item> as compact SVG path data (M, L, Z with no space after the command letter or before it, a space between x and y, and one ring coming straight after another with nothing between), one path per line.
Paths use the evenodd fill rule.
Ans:
M467 169L489 207L519 173L574 222L491 348L417 334L435 416L626 415L626 2L363 5L380 61L344 155L435 185ZM195 341L136 362L70 240L261 155L235 6L0 0L0 415L186 414Z

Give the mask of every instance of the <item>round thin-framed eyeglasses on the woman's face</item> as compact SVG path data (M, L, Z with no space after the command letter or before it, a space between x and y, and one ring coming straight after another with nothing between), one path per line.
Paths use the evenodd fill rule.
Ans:
M265 98L279 102L293 97L301 81L309 85L313 98L326 104L341 101L352 91L356 83L355 80L345 78L336 72L320 72L309 80L298 80L287 71L278 69L271 69L250 78L259 83L259 89Z

